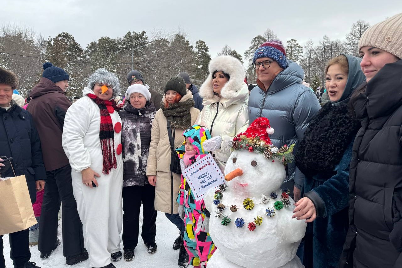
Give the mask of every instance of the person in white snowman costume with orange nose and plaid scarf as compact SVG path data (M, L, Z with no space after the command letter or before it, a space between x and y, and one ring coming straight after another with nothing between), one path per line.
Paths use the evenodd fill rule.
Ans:
M72 184L91 267L115 267L121 259L123 158L121 119L113 99L117 76L101 68L82 98L66 113L62 144L72 167Z

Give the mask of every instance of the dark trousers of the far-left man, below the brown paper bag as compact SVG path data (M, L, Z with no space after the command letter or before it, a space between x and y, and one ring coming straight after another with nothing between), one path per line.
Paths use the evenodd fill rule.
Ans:
M31 252L29 252L29 229L8 234L10 240L10 259L14 266L21 266L29 261ZM6 262L3 255L3 236L0 235L0 268L6 268Z

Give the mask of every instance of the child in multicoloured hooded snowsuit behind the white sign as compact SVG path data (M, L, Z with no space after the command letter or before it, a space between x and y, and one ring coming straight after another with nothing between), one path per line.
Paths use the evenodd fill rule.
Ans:
M183 132L185 142L176 151L180 157L182 170L204 157L203 142L211 138L209 130L194 125ZM215 245L208 233L209 212L204 201L196 201L186 178L181 176L180 192L177 197L179 216L185 223L184 245L189 254L189 264L194 268L205 268L215 252Z

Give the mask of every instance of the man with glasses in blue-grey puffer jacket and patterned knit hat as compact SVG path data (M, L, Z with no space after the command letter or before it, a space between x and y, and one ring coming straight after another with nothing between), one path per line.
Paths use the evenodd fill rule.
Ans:
M293 154L296 154L299 140L320 109L320 103L314 92L301 84L304 71L295 62L286 60L281 41L271 40L260 45L252 65L256 69L257 87L252 89L248 100L249 121L261 116L268 118L275 129L270 135L272 143L279 148L294 143ZM297 202L304 175L294 163L289 163L286 171L283 188L289 188Z

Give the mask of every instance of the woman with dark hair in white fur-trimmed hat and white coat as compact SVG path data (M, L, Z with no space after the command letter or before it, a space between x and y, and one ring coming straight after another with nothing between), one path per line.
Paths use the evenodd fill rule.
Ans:
M212 151L222 172L232 153L229 140L244 132L249 124L248 86L244 82L244 75L243 65L238 59L218 56L209 63L208 78L199 89L204 108L197 124L207 127L213 137L205 141L207 143L204 142L203 146ZM223 85L222 81L225 80L227 82Z

